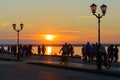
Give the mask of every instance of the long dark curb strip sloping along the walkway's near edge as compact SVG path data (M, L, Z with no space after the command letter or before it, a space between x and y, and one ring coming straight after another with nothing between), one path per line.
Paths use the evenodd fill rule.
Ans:
M59 65L59 64L42 63L42 62L27 62L27 63L33 64L33 65L43 65L48 67L61 68L66 70L75 70L75 71L96 73L96 74L107 75L107 76L120 77L120 71L116 72L116 71L108 71L108 70L86 69L86 68L78 68L78 67L71 67L71 66L65 66L65 65Z

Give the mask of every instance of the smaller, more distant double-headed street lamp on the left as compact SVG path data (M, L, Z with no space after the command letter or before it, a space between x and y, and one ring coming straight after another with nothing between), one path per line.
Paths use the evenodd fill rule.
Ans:
M17 32L17 46L18 46L18 54L17 54L17 60L20 61L20 53L19 53L19 32L22 31L23 29L23 24L20 24L20 28L16 29L16 24L12 24L13 30L15 30Z

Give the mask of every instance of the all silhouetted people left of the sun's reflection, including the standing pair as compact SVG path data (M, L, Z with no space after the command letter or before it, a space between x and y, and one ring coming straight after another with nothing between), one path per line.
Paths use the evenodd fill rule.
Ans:
M46 51L45 45L38 45L38 55L44 55ZM29 57L33 54L33 46L32 45L8 45L0 47L0 54L11 54L17 56L19 52L20 57Z

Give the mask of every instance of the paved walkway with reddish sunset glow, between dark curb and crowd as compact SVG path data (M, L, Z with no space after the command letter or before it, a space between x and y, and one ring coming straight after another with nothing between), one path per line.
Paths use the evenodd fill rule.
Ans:
M77 60L77 62L74 62L75 60ZM97 69L95 62L83 63L81 59L75 59L75 60L70 58L68 65L64 65L64 64L60 64L57 57L45 57L44 59L37 59L37 58L29 59L29 60L27 60L27 63L45 64L45 65L48 64L48 65L56 65L56 66L84 68L84 69L91 69L91 70ZM117 66L115 66L115 65L117 65ZM102 66L102 69L106 70L106 68L104 66ZM120 63L112 64L112 67L109 69L109 71L120 71Z

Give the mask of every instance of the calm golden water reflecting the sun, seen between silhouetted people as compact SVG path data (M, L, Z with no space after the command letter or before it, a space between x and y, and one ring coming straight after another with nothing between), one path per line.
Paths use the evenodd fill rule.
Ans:
M46 47L46 55L60 55L59 54L59 51L60 51L60 48L61 47L52 47L52 46L48 46L48 47ZM74 55L79 55L79 56L81 56L82 54L81 54L81 46L79 46L79 47L74 47ZM119 60L118 61L120 61L120 47L118 47L119 48ZM33 47L33 53L34 54L38 54L37 53L37 47Z

